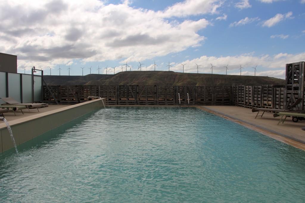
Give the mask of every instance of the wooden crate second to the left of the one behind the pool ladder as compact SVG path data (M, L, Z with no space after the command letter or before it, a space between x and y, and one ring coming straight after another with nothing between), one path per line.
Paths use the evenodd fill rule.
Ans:
M138 105L156 105L156 85L155 86L138 86L137 104Z

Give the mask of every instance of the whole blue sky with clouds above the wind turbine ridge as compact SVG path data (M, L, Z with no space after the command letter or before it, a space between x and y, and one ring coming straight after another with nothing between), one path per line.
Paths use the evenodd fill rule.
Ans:
M0 52L18 56L18 73L113 74L141 62L284 79L286 63L305 61L305 0L0 1Z

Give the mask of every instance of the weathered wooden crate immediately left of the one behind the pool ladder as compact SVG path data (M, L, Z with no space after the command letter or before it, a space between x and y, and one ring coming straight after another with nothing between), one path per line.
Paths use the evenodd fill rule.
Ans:
M159 105L176 105L175 86L157 86L156 101Z

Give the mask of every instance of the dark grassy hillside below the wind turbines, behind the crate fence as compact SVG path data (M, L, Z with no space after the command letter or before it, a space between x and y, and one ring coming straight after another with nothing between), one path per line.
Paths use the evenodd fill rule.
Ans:
M266 76L239 76L173 71L124 71L115 75L44 76L48 85L285 85L285 80Z

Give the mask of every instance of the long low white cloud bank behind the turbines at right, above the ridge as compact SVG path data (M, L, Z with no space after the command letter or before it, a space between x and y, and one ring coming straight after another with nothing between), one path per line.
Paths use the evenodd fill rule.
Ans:
M185 60L183 62L177 62L173 65L171 70L173 71L181 71L182 67L181 64L187 64L184 66L184 70L186 73L196 73L196 63L201 64L199 69L199 73L211 73L210 71L210 63L213 64L213 73L217 74L225 74L225 68L223 66L227 66L229 64L229 73L239 75L238 69L240 68L239 64L242 65L245 69L242 70L242 74L253 75L253 70L251 67L257 67L257 75L262 76L272 76L272 77L281 77L285 78L285 64L304 61L305 60L305 52L299 54L288 54L288 53L279 53L276 55L261 55L255 56L254 53L249 54L242 54L236 56L201 56L200 58L192 59L192 60ZM260 69L264 71L261 72ZM266 70L267 69L267 70ZM268 70L270 69L270 70ZM273 70L276 69L276 70ZM247 72L248 71L248 72ZM284 71L279 72L278 71Z

